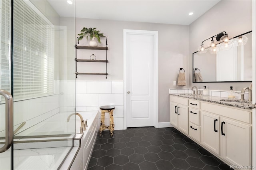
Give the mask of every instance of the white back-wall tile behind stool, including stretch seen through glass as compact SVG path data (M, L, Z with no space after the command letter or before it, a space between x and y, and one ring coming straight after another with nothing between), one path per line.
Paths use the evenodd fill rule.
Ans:
M76 87L75 89L72 87ZM60 81L60 111L100 111L100 106L114 105L115 130L124 129L123 81ZM67 107L65 107L67 106ZM109 115L105 115L109 125ZM100 115L99 115L100 118ZM100 119L99 119L100 122Z

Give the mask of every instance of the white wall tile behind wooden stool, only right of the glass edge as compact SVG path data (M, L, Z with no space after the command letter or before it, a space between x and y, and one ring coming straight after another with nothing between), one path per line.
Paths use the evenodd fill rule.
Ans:
M113 112L115 130L124 129L123 81L76 82L76 112L100 111L100 106L103 105L114 105L116 107ZM101 114L99 113L99 119L100 117ZM105 123L109 124L109 114L106 113L105 117Z

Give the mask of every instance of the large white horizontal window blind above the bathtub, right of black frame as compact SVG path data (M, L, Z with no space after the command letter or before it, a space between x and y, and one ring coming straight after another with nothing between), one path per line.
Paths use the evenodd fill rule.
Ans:
M14 0L14 100L54 93L53 24L30 1Z

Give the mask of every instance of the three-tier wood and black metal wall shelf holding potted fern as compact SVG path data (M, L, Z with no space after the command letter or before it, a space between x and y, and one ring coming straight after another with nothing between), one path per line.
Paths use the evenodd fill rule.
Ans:
M75 45L75 48L76 48L76 78L77 78L77 75L106 75L106 78L107 78L107 63L108 63L108 58L107 58L107 50L108 50L108 43L107 43L107 39L106 39L106 47L91 47L91 46L80 46L80 45L77 45L79 43L78 41L78 37L76 38L76 45ZM106 60L101 60L101 59L78 59L77 58L77 50L78 49L96 49L96 50L106 50ZM77 71L77 63L78 62L95 62L95 63L106 63L106 73L79 73Z

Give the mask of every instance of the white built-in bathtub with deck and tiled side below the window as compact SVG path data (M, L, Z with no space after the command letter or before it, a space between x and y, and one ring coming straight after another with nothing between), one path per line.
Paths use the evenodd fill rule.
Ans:
M98 111L78 113L82 115L84 120L87 119L88 127L86 127L83 134L80 134L80 118L74 116L72 117L76 119L76 127L72 127L73 129L70 131L74 132L74 129L76 129L78 133L70 134L68 127L71 125L66 122L66 117L70 114L65 115L63 113L58 113L47 121L19 133L19 135L28 135L32 138L15 139L14 169L86 170L98 134L99 114ZM63 119L63 125L66 126L56 124L56 119L58 119L58 122ZM71 121L71 119L70 123L74 125L74 121ZM56 130L48 133L50 137L34 138L33 135L38 135L41 132L46 135L45 131L49 129ZM65 135L54 135L56 132L63 132ZM9 159L10 150L4 153L1 154L0 158L1 166Z

